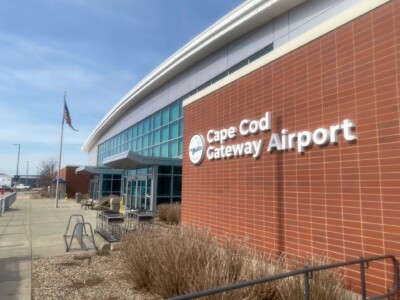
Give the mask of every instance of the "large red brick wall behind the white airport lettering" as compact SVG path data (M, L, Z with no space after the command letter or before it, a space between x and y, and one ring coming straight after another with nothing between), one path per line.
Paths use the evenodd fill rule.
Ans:
M400 1L391 1L186 106L183 222L247 237L275 255L400 257L399 20ZM260 159L189 161L195 133L265 112L272 131L226 143L264 139ZM266 152L271 132L313 131L346 118L356 124L356 143L340 136L303 155ZM368 289L382 292L391 287L390 267L375 265Z

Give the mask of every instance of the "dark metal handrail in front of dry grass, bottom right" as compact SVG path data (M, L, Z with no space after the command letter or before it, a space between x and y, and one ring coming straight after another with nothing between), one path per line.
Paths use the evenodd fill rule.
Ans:
M399 262L393 255L373 256L370 258L360 257L359 259L356 259L356 260L350 260L350 261L346 261L346 262L332 263L332 264L328 264L328 265L314 266L314 267L304 266L304 269L301 269L301 270L295 270L295 271L291 271L291 272L287 272L287 273L283 273L283 274L273 275L273 276L254 279L254 280L245 281L245 282L239 282L239 283L235 283L235 284L231 284L231 285L227 285L227 286L209 289L206 291L200 291L200 292L193 293L190 295L177 296L177 297L173 297L173 298L169 298L169 299L170 300L195 299L195 298L219 294L219 293L232 291L232 290L236 290L236 289L240 289L240 288L244 288L244 287L248 287L248 286L252 286L252 285L256 285L256 284L260 284L260 283L271 282L274 280L279 280L279 279L303 274L304 275L304 287L305 287L304 299L309 300L309 292L310 292L309 291L309 276L308 276L309 273L359 264L360 265L360 279L361 279L361 295L362 295L362 299L364 300L364 299L367 299L364 269L368 268L369 262L376 261L376 260L384 260L384 259L391 259L392 263L393 263L393 287L391 290L389 290L388 292L386 292L383 295L378 295L373 298L368 298L369 300L383 299L383 298L395 295L399 289L399 282L398 282Z

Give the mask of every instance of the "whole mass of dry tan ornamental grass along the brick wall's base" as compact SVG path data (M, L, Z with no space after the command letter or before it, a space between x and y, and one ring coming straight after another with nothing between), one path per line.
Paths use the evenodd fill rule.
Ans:
M272 262L265 255L249 250L243 241L227 238L222 243L208 232L182 226L156 234L137 230L125 236L120 258L125 278L136 289L163 298L191 294L219 286L264 278L303 265L328 264L315 258L302 264L286 257ZM346 291L343 277L334 270L313 272L310 299L359 299ZM358 298L357 298L358 297ZM304 299L303 276L233 290L202 299Z

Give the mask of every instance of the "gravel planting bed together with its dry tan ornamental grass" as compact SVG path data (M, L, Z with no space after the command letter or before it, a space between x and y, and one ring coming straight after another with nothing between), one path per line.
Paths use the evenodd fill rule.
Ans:
M314 258L301 265L328 263ZM301 268L287 257L276 262L254 253L243 241L217 241L198 228L144 226L126 235L120 251L114 253L34 260L32 299L162 299L284 273L288 265L291 269ZM201 299L302 300L302 278L286 278ZM318 300L360 299L344 289L343 278L335 271L314 272L310 296Z

